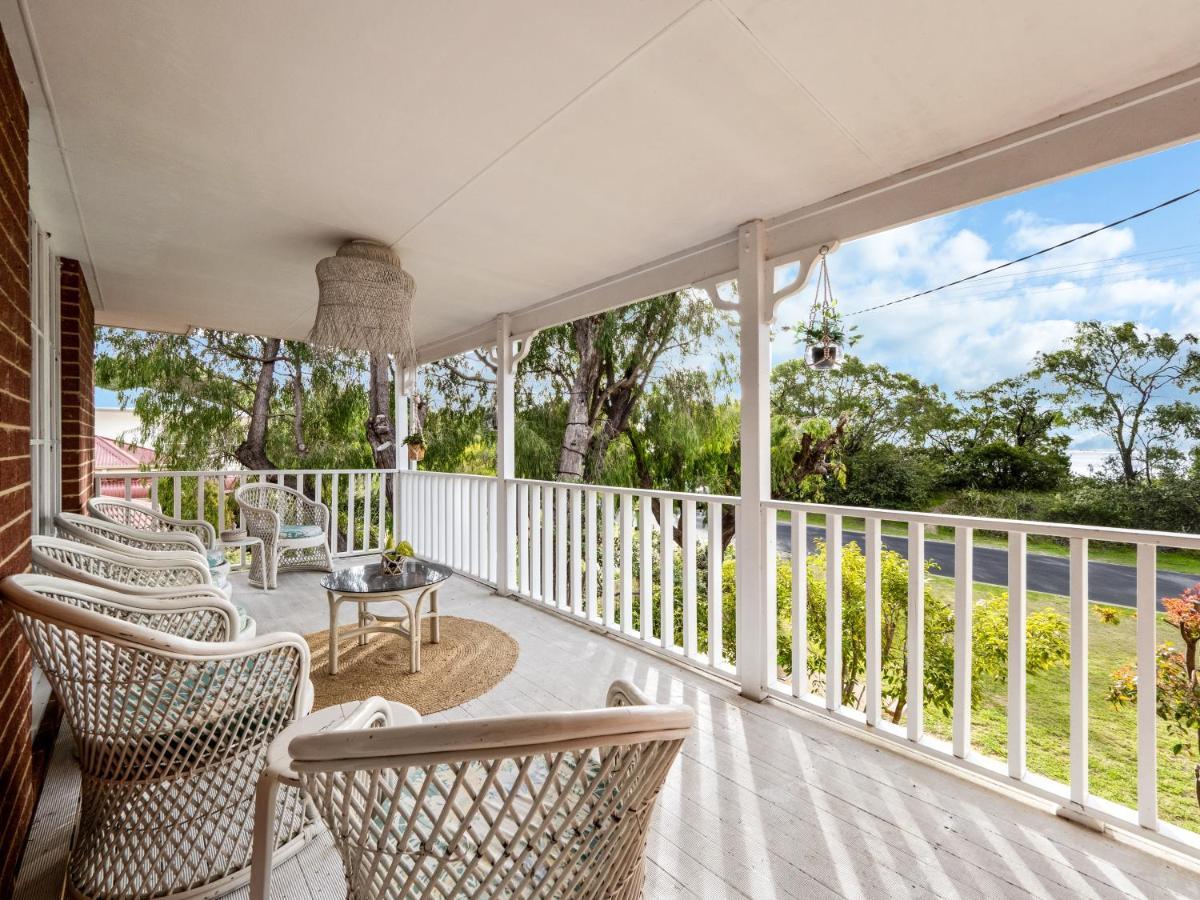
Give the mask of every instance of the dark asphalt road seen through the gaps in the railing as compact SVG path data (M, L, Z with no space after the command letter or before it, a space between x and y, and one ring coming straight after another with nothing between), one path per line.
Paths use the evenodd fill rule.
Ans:
M809 526L809 552L814 551L815 541L824 539L824 528ZM792 526L780 522L776 529L778 547L787 553L792 546ZM842 532L842 544L857 542L864 545L862 532ZM883 535L883 546L893 550L905 559L908 558L908 539ZM936 574L954 575L954 545L948 541L925 541L925 559L937 563ZM1070 590L1070 570L1067 557L1051 557L1043 553L1028 553L1026 571L1030 590L1046 594L1068 594ZM1088 599L1092 602L1117 604L1118 606L1136 606L1138 574L1132 565L1115 563L1088 563L1087 566ZM986 584L1006 586L1008 583L1008 551L998 547L974 548L974 580ZM1184 588L1200 581L1194 575L1178 572L1158 572L1158 598L1177 596ZM1162 604L1159 604L1162 608Z

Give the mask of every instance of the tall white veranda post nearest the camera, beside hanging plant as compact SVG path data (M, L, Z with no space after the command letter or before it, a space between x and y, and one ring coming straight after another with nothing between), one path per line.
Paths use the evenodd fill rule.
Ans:
M767 515L770 499L770 317L763 227L738 229L738 314L742 350L742 503L737 512L737 666L742 696L767 696L772 653L767 622Z

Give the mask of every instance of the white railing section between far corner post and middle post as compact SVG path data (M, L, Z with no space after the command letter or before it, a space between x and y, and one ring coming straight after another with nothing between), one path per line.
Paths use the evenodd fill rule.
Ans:
M397 535L418 556L496 584L496 479L401 470Z

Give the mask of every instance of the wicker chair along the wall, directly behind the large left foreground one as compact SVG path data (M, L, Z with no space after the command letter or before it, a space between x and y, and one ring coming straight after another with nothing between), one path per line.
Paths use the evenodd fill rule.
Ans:
M115 551L91 544L35 535L31 541L34 566L47 575L72 578L86 584L150 598L218 596L229 600L228 586L212 583L208 559L192 551L160 553L126 547ZM248 638L257 625L239 610Z

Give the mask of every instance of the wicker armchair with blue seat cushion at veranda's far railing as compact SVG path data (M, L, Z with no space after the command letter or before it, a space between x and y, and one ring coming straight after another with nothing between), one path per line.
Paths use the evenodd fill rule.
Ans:
M234 491L246 533L263 541L263 552L251 560L250 582L263 588L278 587L280 571L334 570L329 550L329 506L310 500L300 491L260 482ZM287 536L288 527L312 532Z

